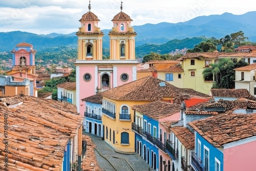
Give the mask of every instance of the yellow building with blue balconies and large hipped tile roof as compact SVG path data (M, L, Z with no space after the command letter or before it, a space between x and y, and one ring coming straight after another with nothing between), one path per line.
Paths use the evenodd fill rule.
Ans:
M117 151L135 152L135 133L132 131L135 114L131 107L157 100L171 102L184 94L198 95L198 92L177 88L153 76L103 92L103 139Z

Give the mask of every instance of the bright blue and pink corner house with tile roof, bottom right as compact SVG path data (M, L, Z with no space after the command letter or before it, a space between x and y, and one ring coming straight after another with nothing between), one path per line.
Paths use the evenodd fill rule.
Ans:
M253 170L255 120L256 114L222 114L188 123L195 131L194 170Z

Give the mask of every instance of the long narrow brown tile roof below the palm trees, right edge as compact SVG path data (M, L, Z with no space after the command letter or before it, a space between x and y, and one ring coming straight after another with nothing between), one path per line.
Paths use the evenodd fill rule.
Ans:
M235 98L248 98L256 100L247 89L211 89L212 97L235 97Z

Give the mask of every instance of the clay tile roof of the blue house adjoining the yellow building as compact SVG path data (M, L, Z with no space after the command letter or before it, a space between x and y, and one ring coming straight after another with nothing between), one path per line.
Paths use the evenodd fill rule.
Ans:
M180 104L154 101L151 103L134 105L132 106L132 109L143 113L143 115L151 117L152 119L158 120L180 112Z

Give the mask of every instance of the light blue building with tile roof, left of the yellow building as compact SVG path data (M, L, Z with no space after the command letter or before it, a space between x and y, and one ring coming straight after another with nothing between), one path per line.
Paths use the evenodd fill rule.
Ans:
M102 95L96 95L81 99L85 102L83 129L86 132L102 137Z

